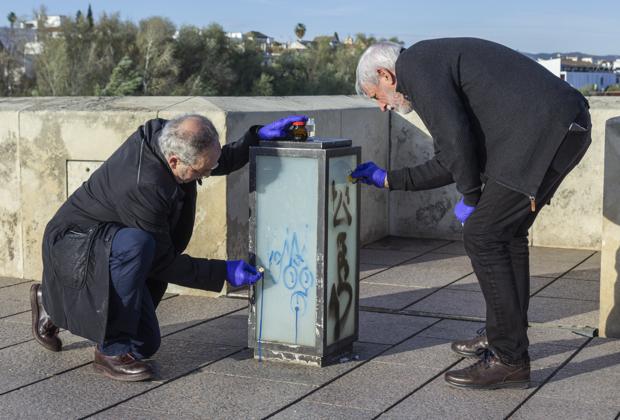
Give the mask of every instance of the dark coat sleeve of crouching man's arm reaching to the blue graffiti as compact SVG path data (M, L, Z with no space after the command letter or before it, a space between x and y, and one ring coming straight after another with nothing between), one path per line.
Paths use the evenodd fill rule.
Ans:
M222 289L226 280L225 261L176 252L168 222L171 206L176 202L167 198L158 185L141 183L133 197L124 201L131 203L122 209L124 224L145 230L155 239L155 260L150 273L153 280L216 292Z

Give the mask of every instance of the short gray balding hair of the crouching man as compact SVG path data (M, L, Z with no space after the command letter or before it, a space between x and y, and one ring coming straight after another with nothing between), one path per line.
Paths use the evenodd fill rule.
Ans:
M183 126L183 122L192 119L198 122L197 130L188 130ZM220 138L213 123L198 114L185 114L171 119L159 136L159 148L166 159L176 155L190 165L219 142Z

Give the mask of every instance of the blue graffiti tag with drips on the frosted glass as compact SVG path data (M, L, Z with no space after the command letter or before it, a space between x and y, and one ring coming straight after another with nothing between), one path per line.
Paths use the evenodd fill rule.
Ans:
M314 275L304 259L305 245L300 249L297 233L289 234L279 251L269 254L269 273L273 284L283 284L291 291L290 308L295 314L295 344L299 332L299 318L308 309L308 291L314 284Z

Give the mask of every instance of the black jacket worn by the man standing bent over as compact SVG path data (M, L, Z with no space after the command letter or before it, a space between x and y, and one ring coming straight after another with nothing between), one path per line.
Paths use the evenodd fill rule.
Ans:
M428 128L435 157L388 173L390 189L456 182L475 205L482 179L536 197L558 146L587 101L540 64L476 38L421 41L396 61L397 91Z

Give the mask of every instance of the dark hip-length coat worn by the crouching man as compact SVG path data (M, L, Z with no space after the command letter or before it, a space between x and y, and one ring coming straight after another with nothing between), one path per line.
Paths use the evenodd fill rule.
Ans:
M147 286L155 304L167 283L221 290L226 264L183 254L192 236L196 181L178 184L158 138L166 120L146 122L61 206L43 237L43 304L54 323L101 342L108 312L109 255L118 229L150 232L156 241ZM225 145L212 175L243 167L257 127ZM204 238L209 240L209 238Z

